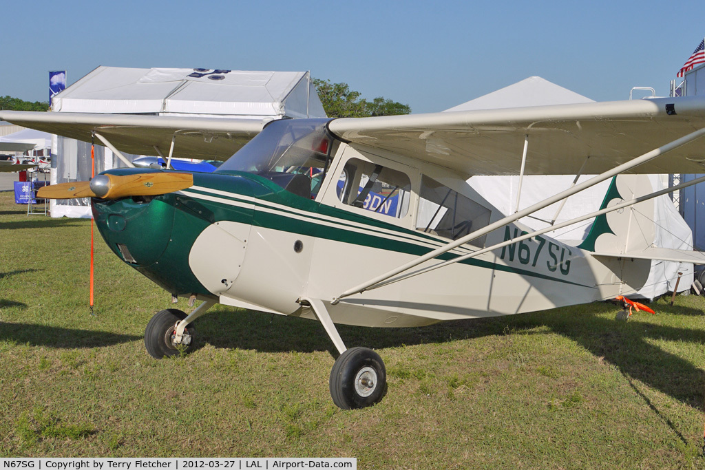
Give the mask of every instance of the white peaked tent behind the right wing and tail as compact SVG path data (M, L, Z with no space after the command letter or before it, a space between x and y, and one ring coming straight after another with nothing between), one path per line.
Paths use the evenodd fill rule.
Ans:
M501 109L523 106L543 106L551 104L587 103L593 100L569 89L560 87L540 77L529 77L525 80L498 89L496 92L483 97L467 101L446 111L469 111L478 109ZM529 146L531 140L529 137ZM522 149L517 149L517 162L520 161ZM518 163L517 163L518 165ZM517 168L518 172L519 168ZM591 178L591 175L582 175L578 183ZM657 176L651 176L651 186L654 191L663 188ZM519 190L518 176L474 176L468 183L479 192L487 201L493 204L503 214L513 214L517 209L525 209L532 204L553 196L556 192L566 190L572 185L575 175L546 175L525 176L522 181L520 202L517 208L517 192ZM599 209L605 197L610 181L599 183L588 190L568 198L560 209L560 203L552 204L531 217L524 217L520 222L539 230L550 225L555 218L556 223L568 221L571 218L589 214ZM656 222L656 236L654 246L675 249L692 249L692 233L678 210L668 196L656 198L654 204L654 221ZM587 237L592 221L571 225L556 233L548 233L551 237L579 245ZM639 291L644 298L653 299L668 291L675 289L678 273L683 273L679 290L687 290L693 282L692 264L679 264L670 261L651 261L651 271L646 285Z

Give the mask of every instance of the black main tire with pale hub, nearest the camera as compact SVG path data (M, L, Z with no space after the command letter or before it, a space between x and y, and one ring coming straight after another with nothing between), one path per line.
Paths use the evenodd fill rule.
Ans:
M333 403L341 409L358 409L379 403L387 386L387 372L379 354L353 347L338 357L329 381Z

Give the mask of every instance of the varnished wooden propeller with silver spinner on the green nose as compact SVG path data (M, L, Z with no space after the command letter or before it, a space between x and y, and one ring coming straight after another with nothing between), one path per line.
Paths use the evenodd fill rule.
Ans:
M90 181L59 183L39 188L43 199L99 197L118 199L129 196L157 196L185 190L193 185L191 173L135 173L133 175L98 175Z

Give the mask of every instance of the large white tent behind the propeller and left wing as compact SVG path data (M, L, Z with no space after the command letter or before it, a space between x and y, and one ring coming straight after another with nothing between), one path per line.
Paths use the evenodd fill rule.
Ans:
M326 117L308 72L201 68L101 66L56 95L51 111L259 120ZM52 154L58 158L51 183L90 178L90 144L59 137ZM96 172L123 165L104 147L96 147L96 161ZM51 216L90 217L90 208L83 199L52 200Z

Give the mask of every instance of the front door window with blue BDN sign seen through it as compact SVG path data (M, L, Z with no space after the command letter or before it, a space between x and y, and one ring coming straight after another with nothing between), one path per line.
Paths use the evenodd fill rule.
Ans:
M401 171L350 159L338 178L336 193L343 204L402 218L409 212L411 181Z

